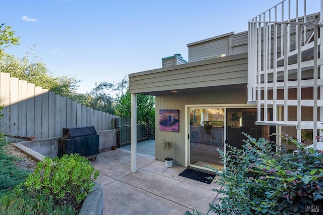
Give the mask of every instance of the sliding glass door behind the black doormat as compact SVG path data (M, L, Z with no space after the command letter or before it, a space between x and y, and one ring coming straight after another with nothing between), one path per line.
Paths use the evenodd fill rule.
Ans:
M225 142L242 148L243 133L258 139L270 139L275 133L275 126L256 125L256 108L188 108L189 113L189 166L210 170L223 169L222 158L218 150L226 151ZM272 119L268 110L268 119ZM273 138L273 137L272 137ZM275 140L275 138L273 138Z

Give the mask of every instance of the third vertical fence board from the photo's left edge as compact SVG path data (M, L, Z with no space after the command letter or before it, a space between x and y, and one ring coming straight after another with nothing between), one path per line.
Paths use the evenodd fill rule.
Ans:
M27 136L27 81L19 80L18 136Z

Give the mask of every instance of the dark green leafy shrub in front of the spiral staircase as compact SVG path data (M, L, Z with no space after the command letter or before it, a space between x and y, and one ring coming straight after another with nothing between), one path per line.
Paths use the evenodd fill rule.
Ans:
M210 204L210 210L219 214L321 214L323 154L289 137L285 139L298 153L282 148L276 152L274 143L246 137L243 149L228 145L226 154L220 151L226 168L215 170L220 175L217 183L223 187L214 191L223 197L220 203Z

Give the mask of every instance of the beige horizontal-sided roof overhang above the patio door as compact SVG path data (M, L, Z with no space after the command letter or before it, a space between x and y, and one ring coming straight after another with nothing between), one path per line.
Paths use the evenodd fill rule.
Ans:
M226 56L129 74L129 92L147 95L246 88L248 55Z

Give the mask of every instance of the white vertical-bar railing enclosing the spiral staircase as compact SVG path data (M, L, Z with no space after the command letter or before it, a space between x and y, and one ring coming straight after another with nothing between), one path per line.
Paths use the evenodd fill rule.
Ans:
M295 126L300 140L301 129L323 129L323 25L322 12L307 15L299 2L282 1L248 22L248 103L257 104L256 124ZM307 121L304 112L312 113Z

